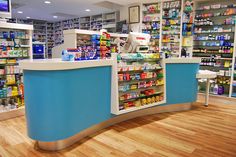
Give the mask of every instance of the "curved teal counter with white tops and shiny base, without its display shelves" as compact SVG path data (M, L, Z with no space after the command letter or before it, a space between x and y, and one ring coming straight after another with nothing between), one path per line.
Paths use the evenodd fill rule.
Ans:
M160 112L188 110L197 97L198 59L166 60L166 103L111 114L116 60L22 61L27 129L45 150L59 150L115 123Z

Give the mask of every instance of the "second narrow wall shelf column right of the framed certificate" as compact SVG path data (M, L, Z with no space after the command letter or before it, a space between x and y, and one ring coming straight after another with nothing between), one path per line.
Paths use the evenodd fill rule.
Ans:
M162 3L161 50L166 57L180 57L181 52L181 7L180 0Z

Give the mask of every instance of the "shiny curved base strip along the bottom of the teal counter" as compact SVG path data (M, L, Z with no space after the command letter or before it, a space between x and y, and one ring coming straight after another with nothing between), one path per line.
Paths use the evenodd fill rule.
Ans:
M104 128L107 128L111 125L120 123L122 121L126 121L129 119L141 117L141 116L147 116L147 115L152 115L156 113L164 113L164 112L175 112L175 111L185 111L185 110L190 110L191 109L191 103L184 103L184 104L175 104L175 105L168 105L168 106L156 106L152 108L147 108L123 115L119 115L116 117L113 117L105 122L102 122L100 124L94 125L74 136L71 136L67 139L64 140L59 140L55 142L42 142L42 141L37 141L37 147L42 150L47 150L47 151L58 151L64 148L67 148L74 143L78 142L79 140L83 139L86 136L92 135L96 133L99 130L102 130Z

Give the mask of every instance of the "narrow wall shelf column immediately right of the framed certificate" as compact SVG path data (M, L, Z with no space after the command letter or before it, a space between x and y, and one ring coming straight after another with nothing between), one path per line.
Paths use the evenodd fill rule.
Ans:
M143 4L142 32L151 35L150 52L160 52L161 3Z

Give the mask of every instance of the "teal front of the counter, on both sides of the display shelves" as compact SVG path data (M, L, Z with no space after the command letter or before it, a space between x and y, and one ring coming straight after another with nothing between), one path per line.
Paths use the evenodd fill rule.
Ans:
M112 63L62 70L21 66L30 138L63 140L115 117L111 114ZM198 69L198 63L166 63L167 103L163 105L196 101Z

